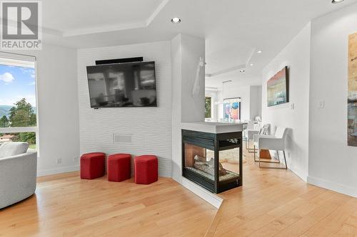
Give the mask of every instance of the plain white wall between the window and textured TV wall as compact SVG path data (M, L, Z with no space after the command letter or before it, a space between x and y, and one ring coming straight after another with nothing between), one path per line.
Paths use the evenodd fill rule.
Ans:
M79 169L79 112L76 50L43 44L36 56L39 117L38 175ZM57 164L61 159L61 164Z

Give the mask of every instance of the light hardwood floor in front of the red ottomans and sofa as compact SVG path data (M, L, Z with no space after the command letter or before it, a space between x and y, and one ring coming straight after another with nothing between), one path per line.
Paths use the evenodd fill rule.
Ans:
M39 178L34 196L0 210L0 236L204 236L215 214L172 179L137 185L74 172Z

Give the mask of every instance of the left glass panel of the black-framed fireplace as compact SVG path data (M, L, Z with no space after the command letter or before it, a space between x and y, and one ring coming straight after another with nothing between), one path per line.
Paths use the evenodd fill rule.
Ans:
M214 181L214 152L211 149L184 144L185 168Z

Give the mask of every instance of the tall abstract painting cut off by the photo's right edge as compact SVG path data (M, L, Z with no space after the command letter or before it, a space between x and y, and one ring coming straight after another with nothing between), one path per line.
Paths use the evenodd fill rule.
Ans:
M357 33L348 36L348 146L357 147Z

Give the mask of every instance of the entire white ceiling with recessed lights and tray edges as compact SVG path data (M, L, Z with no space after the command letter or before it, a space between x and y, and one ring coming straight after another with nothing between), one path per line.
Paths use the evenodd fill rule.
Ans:
M206 38L206 84L260 84L262 68L318 16L357 0L44 0L44 41L72 48ZM170 19L178 16L179 24ZM257 54L257 50L263 53ZM254 63L253 67L246 65ZM245 68L246 73L239 69ZM224 73L226 72L226 73ZM213 75L213 76L209 76Z

